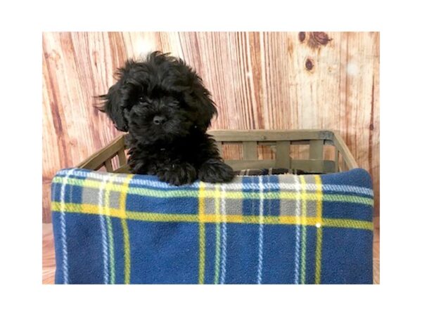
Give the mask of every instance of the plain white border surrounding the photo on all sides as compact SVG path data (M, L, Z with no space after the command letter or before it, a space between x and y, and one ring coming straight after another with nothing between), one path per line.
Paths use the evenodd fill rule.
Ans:
M284 2L3 1L2 315L415 315L421 310L417 1ZM381 31L381 285L41 285L41 32L59 30Z

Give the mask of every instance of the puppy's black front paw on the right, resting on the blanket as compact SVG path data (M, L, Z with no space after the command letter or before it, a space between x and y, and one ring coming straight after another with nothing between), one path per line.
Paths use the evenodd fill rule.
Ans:
M217 159L207 160L198 170L198 178L204 182L224 183L234 178L234 171L231 166L220 162Z

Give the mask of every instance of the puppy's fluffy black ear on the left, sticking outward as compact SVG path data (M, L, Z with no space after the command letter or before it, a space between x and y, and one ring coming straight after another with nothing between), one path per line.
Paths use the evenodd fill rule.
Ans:
M118 81L110 86L107 94L99 96L103 100L103 106L99 107L98 110L106 112L119 131L129 131L127 119L124 117L124 109L129 107L130 85L127 84L127 81L129 71L134 65L134 61L128 60L124 68L117 70Z

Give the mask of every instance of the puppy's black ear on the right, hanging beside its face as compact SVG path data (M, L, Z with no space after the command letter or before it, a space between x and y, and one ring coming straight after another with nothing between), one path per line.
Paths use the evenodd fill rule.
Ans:
M196 100L198 108L198 127L205 132L211 124L212 117L217 114L217 107L215 107L214 101L211 100L210 91L207 91L205 86L203 86L202 79L199 77L197 77L193 85L191 96Z

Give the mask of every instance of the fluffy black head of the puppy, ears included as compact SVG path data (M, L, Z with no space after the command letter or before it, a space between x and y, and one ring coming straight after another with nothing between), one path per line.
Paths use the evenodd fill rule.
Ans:
M155 52L142 62L129 60L117 75L117 83L102 96L101 110L141 143L205 133L217 112L200 77L169 55Z

